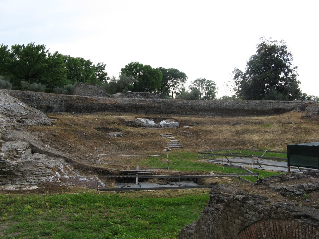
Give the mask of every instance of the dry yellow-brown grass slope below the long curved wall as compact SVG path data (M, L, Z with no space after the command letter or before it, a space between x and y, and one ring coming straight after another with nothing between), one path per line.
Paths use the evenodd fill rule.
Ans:
M51 126L34 126L28 130L54 148L67 152L83 163L99 164L98 154L149 155L162 153L167 139L160 133L172 133L184 148L174 151L198 152L219 148L260 148L286 150L286 145L319 141L318 118L306 119L304 112L258 117L206 117L98 112L93 114L55 113ZM136 118L173 118L182 125L173 129L127 127L126 120ZM197 125L193 125L196 123ZM182 126L193 125L185 129ZM101 130L102 128L102 130ZM111 137L104 131L124 133ZM39 134L41 132L41 134ZM126 169L134 164L131 157L101 160L102 166Z

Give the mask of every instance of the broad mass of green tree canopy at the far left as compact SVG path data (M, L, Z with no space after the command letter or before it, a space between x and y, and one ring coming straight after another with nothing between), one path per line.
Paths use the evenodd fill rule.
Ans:
M8 76L17 89L22 81L44 85L48 91L80 82L101 84L108 79L105 66L102 62L95 66L81 57L51 54L44 45L16 44L11 49L0 45L0 76Z

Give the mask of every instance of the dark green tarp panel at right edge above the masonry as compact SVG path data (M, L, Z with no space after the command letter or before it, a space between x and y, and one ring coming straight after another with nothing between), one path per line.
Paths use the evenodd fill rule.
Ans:
M288 144L288 166L319 169L319 142Z

